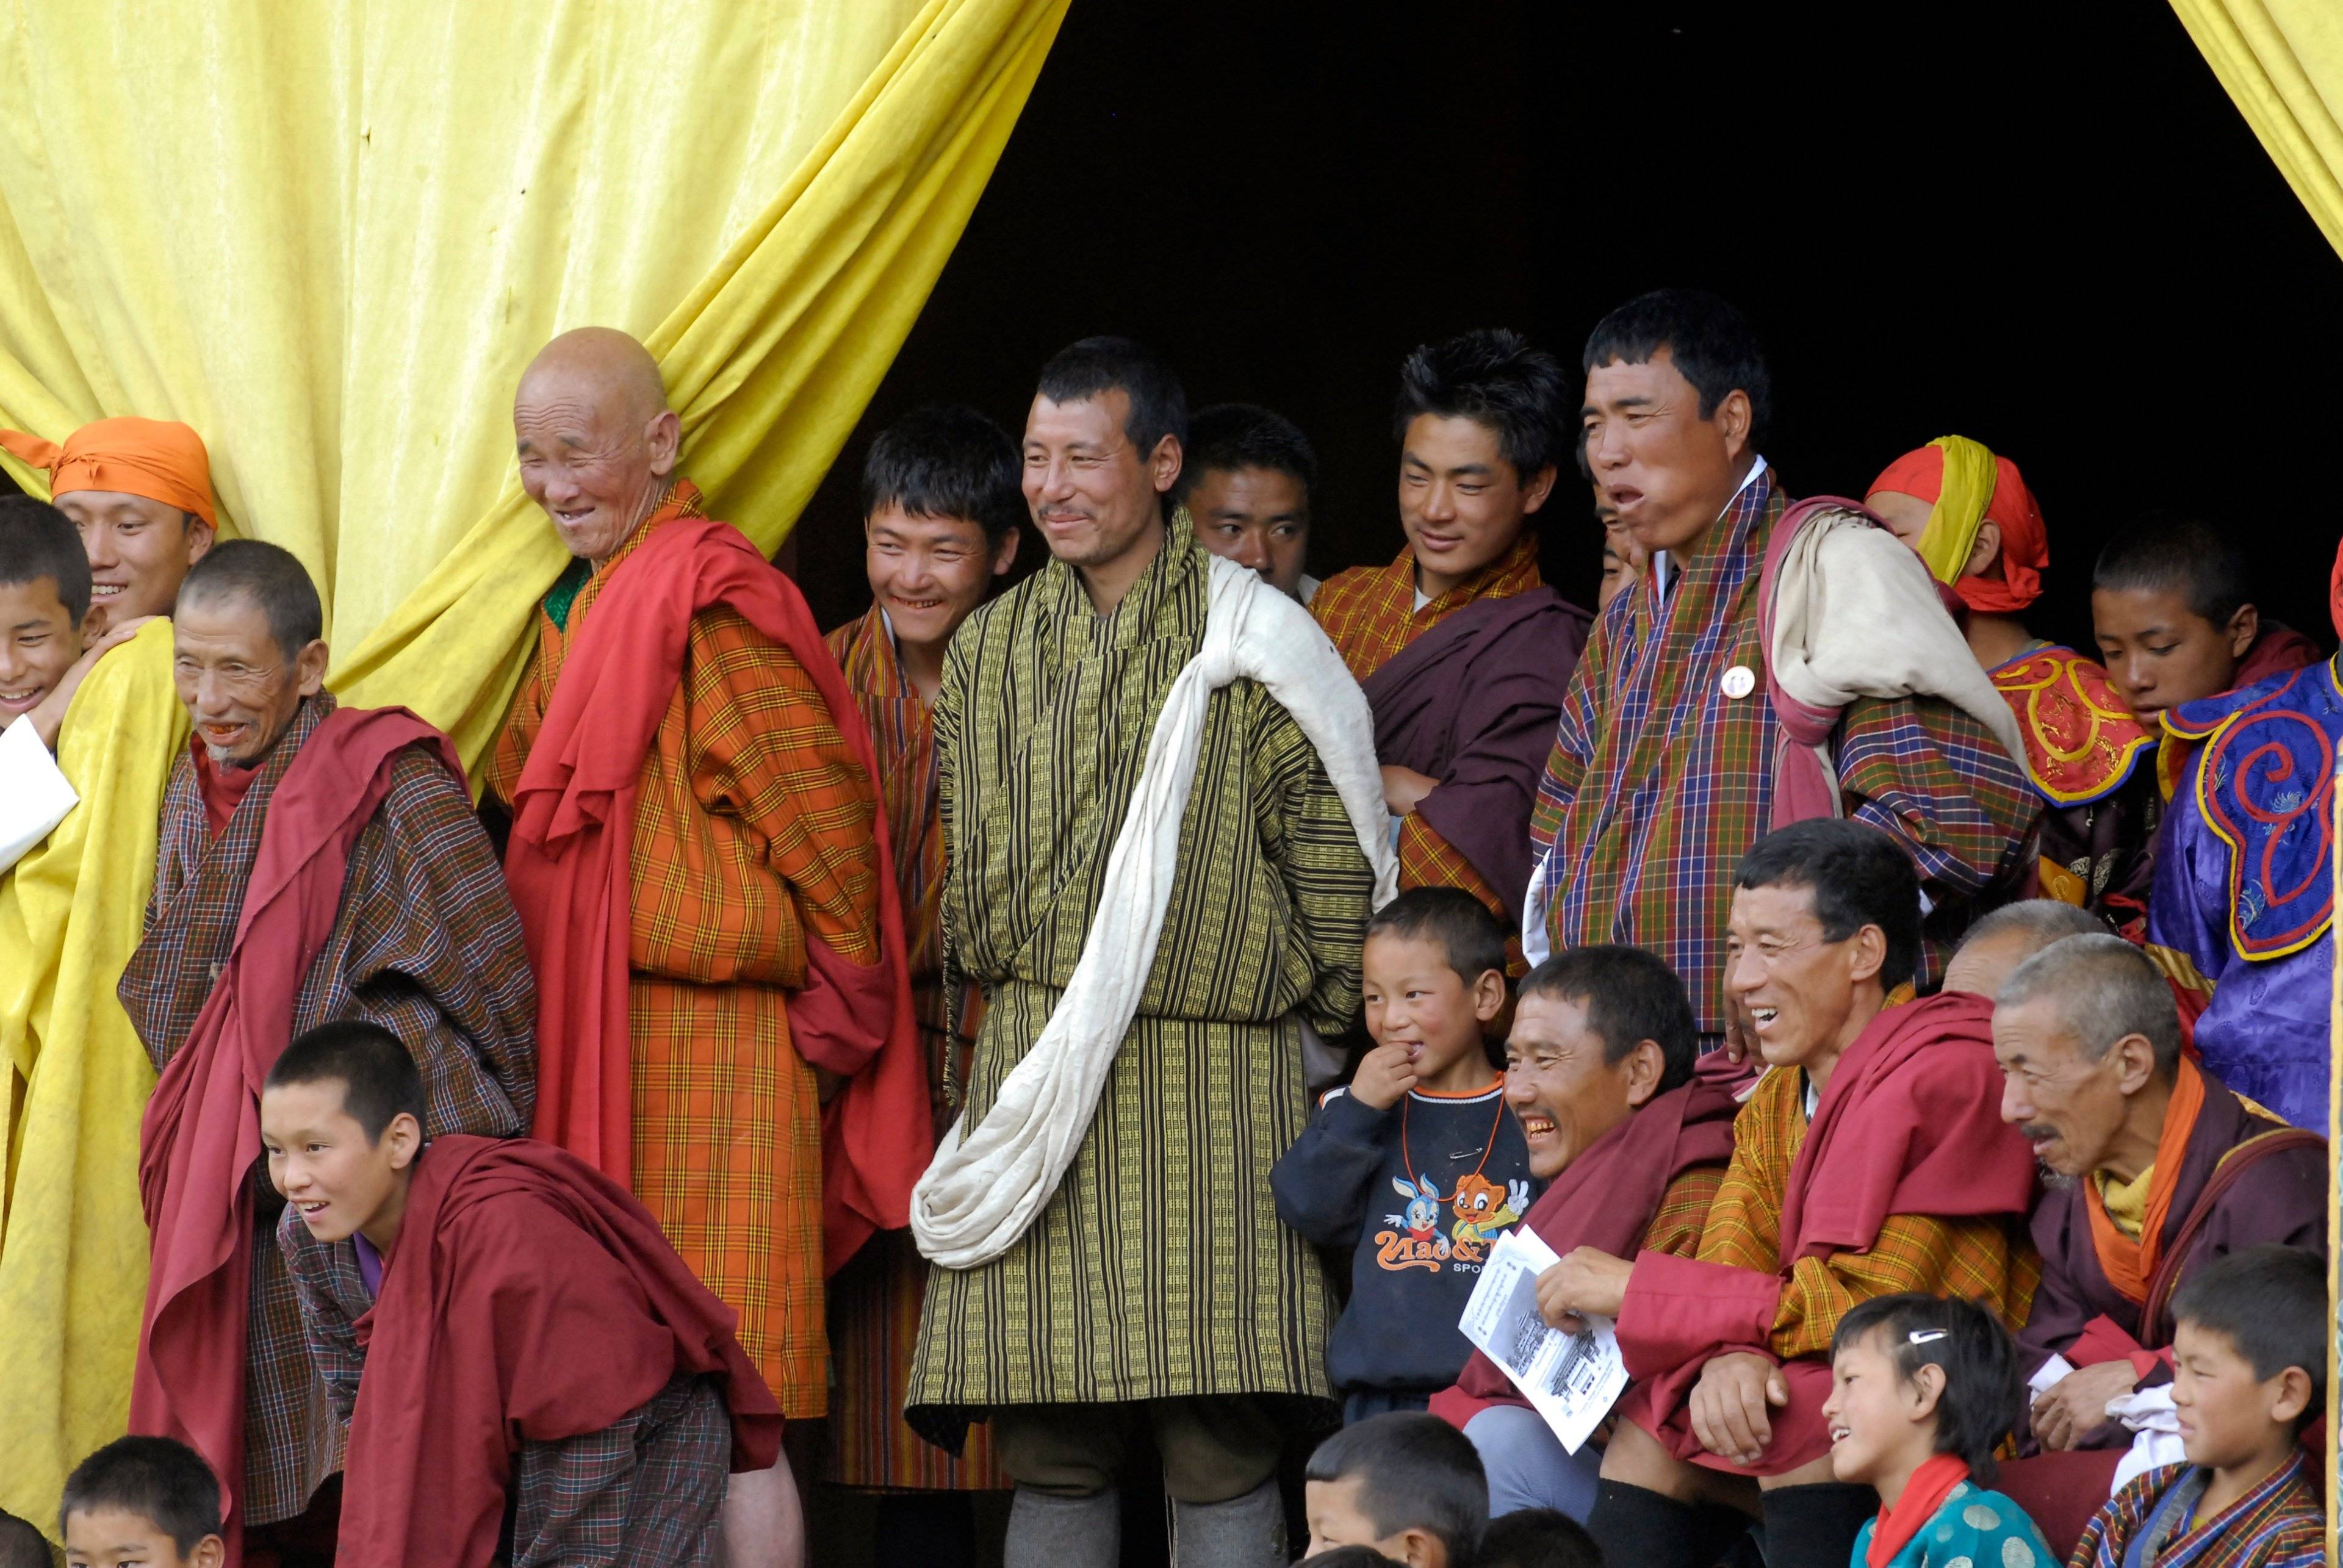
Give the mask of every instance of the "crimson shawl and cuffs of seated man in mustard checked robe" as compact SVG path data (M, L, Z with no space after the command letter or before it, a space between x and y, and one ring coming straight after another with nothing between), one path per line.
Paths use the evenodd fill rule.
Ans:
M2034 1148L2001 1120L1994 1003L1945 991L1881 1010L1839 1057L1797 1146L1781 1198L1778 1270L1645 1252L1619 1313L1635 1388L1621 1413L1680 1460L1724 1465L1692 1434L1689 1399L1720 1355L1767 1350L1783 1284L1799 1259L1870 1252L1891 1214L2022 1216L2034 1207ZM1828 1357L1778 1362L1790 1404L1753 1474L1781 1474L1830 1451Z

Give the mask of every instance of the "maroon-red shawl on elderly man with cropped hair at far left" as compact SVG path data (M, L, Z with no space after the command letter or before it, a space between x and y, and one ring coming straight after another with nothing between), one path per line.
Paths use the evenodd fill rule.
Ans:
M237 942L162 1071L138 1127L138 1195L155 1238L131 1432L192 1446L244 1488L244 1352L251 1313L260 1083L293 1036L293 1001L342 905L349 851L391 788L391 759L448 736L405 708L335 708L276 783L237 916ZM230 1547L241 1507L230 1514Z

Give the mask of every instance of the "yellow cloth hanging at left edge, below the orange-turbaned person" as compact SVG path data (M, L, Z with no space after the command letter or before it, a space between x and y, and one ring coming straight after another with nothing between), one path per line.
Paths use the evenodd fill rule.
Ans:
M138 1116L155 1088L115 1001L155 881L187 710L171 623L105 654L56 762L82 804L0 877L0 1509L56 1528L66 1472L122 1434L145 1305Z

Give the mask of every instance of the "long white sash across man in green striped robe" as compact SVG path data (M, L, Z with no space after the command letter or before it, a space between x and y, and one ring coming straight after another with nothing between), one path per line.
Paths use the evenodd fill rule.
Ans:
M1293 715L1375 867L1375 907L1399 891L1375 717L1343 656L1307 609L1230 560L1211 558L1209 593L1204 642L1155 717L1073 977L1033 1050L1000 1083L993 1109L975 1130L963 1116L911 1191L911 1235L944 1268L975 1268L1007 1252L1050 1202L1089 1132L1155 966L1204 741L1204 703L1216 689L1258 680Z

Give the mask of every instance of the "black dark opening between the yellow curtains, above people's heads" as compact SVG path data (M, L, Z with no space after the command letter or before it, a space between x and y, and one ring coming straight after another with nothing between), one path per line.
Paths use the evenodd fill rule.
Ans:
M794 565L825 626L860 612L872 434L954 398L1015 434L1040 361L1108 330L1190 405L1310 431L1312 572L1385 560L1406 349L1502 323L1574 366L1661 284L1757 319L1792 495L1945 431L2013 457L2036 633L2088 647L2092 555L2167 506L2249 534L2263 609L2329 635L2343 263L2146 0L1075 0ZM1544 558L1591 605L1582 497Z

